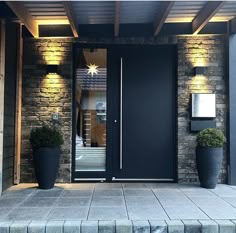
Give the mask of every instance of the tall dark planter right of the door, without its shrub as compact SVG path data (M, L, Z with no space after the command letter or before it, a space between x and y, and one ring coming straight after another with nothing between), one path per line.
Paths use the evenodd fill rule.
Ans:
M222 160L223 148L197 147L197 170L203 188L216 187Z

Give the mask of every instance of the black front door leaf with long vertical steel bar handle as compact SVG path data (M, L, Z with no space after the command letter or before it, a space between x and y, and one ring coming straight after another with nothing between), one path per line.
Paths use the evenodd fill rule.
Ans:
M175 177L175 48L110 51L112 179Z

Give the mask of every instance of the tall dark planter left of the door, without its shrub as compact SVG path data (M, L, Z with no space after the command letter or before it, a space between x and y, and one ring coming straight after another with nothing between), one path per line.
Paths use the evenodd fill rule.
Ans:
M34 168L41 189L54 187L59 167L59 148L42 147L34 150Z

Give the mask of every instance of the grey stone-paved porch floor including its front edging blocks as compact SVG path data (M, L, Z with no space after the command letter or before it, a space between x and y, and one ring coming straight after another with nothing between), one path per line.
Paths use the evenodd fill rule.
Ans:
M235 233L235 220L236 186L228 185L80 183L39 190L21 184L0 198L0 233Z

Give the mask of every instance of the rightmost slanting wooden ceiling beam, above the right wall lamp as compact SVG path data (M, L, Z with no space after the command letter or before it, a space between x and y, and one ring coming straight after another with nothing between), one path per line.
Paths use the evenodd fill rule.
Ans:
M207 2L192 21L193 34L198 34L223 6L224 1Z

